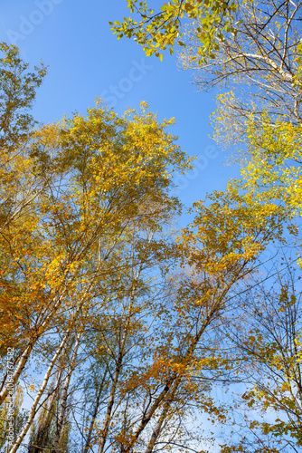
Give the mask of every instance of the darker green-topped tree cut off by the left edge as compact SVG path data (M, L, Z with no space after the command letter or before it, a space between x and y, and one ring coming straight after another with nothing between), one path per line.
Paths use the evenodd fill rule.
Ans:
M19 56L14 45L0 43L0 203L1 230L29 208L40 180L34 181L28 171L29 157L24 147L31 138L34 120L28 112L35 91L46 74L43 65L26 72L28 64Z

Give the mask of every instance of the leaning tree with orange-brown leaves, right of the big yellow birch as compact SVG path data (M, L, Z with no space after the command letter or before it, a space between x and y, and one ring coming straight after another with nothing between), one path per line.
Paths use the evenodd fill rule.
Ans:
M122 428L119 420L112 422L112 445L120 451L151 452L156 445L173 446L173 440L182 446L176 419L184 422L192 405L224 418L209 398L209 386L196 385L193 377L213 381L229 366L219 347L209 345L214 325L230 310L236 284L253 272L261 250L279 235L283 217L276 207L249 206L248 198L234 193L217 193L210 200L210 207L196 204L196 218L180 244L183 265L192 268L191 275L176 284L172 304L164 299L157 309L155 305L159 319L146 356L152 361L143 361L142 368L132 364L122 381L123 393L134 403L122 411L127 421Z

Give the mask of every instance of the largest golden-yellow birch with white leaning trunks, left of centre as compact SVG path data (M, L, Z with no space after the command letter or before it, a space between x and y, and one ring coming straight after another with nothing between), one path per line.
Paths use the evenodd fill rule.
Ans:
M73 333L90 324L96 300L101 310L109 304L109 294L122 291L119 280L131 266L131 254L123 248L133 249L138 260L144 250L151 266L160 257L161 242L152 237L180 209L169 194L171 175L189 167L175 138L165 133L169 124L158 124L146 105L140 114L127 111L121 119L98 105L87 118L76 114L35 130L22 145L26 172L20 170L20 185L38 180L39 190L2 230L3 344L14 332L14 384L20 376L26 382L37 354L42 358L39 373L45 374L40 383L29 381L37 391L12 453L45 404ZM18 146L16 142L16 156ZM144 236L146 231L149 236ZM74 370L66 372L65 393L56 401L61 415L55 446ZM7 391L4 374L2 401ZM46 432L48 421L46 425L38 427L39 439L39 429Z

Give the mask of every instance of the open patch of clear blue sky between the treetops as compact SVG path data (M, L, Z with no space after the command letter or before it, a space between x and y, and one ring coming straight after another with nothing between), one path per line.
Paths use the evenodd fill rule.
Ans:
M159 120L175 117L171 132L182 149L199 158L178 180L186 207L206 192L224 190L238 174L226 166L228 153L209 137L215 93L196 91L192 73L177 68L176 55L166 53L161 63L110 31L109 21L128 15L127 0L1 0L0 7L1 41L17 44L24 61L49 66L34 105L36 120L85 113L99 96L118 114L147 101Z

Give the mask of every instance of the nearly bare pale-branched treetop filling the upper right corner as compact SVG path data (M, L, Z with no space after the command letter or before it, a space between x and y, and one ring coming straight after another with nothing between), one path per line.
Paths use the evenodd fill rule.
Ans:
M225 36L216 58L206 64L199 60L199 24L188 27L184 67L196 73L202 89L231 90L218 95L217 140L245 137L250 115L260 127L264 111L272 121L301 123L301 7L299 1L238 2L231 17L236 33Z

